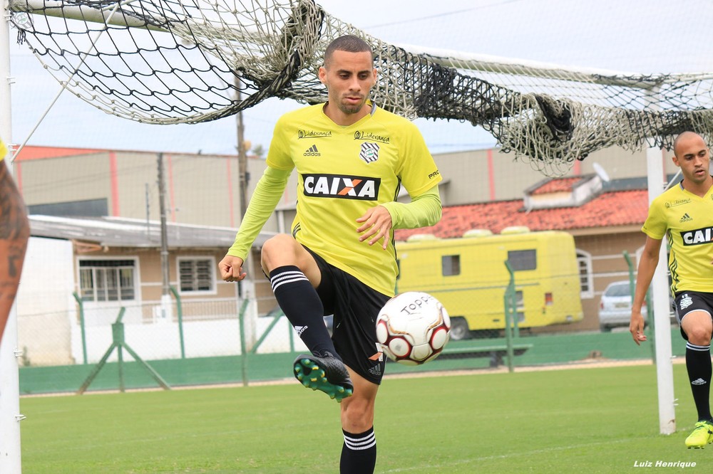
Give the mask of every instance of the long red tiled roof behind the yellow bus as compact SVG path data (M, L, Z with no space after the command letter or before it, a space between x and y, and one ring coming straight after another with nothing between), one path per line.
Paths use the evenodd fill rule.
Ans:
M649 207L645 190L612 191L600 194L578 207L523 209L523 201L497 201L467 206L443 207L441 221L433 227L399 229L396 240L406 240L414 233L433 233L439 238L463 236L473 228L487 228L499 233L509 226L527 226L531 231L609 226L639 226L644 223Z

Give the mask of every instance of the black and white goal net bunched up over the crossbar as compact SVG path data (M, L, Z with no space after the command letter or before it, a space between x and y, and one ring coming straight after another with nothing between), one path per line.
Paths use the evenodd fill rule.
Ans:
M713 137L713 73L576 71L394 46L311 0L10 0L11 21L44 67L105 112L151 124L233 115L269 97L326 100L324 48L354 34L376 52L372 97L411 119L482 126L550 175L610 146L670 149Z

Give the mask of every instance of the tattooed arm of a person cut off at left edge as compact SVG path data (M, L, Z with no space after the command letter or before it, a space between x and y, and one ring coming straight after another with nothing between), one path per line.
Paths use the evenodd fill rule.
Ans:
M30 225L22 197L2 159L0 141L0 340L20 283Z

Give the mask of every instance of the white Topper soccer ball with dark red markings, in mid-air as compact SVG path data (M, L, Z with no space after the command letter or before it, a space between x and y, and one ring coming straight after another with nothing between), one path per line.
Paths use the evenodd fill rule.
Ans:
M406 365L436 359L450 332L446 308L433 296L418 291L392 297L376 318L376 340L384 354Z

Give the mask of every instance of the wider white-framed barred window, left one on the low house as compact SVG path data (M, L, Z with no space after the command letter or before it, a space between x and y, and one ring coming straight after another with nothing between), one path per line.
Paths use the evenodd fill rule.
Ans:
M134 268L134 260L79 260L82 300L134 300Z

